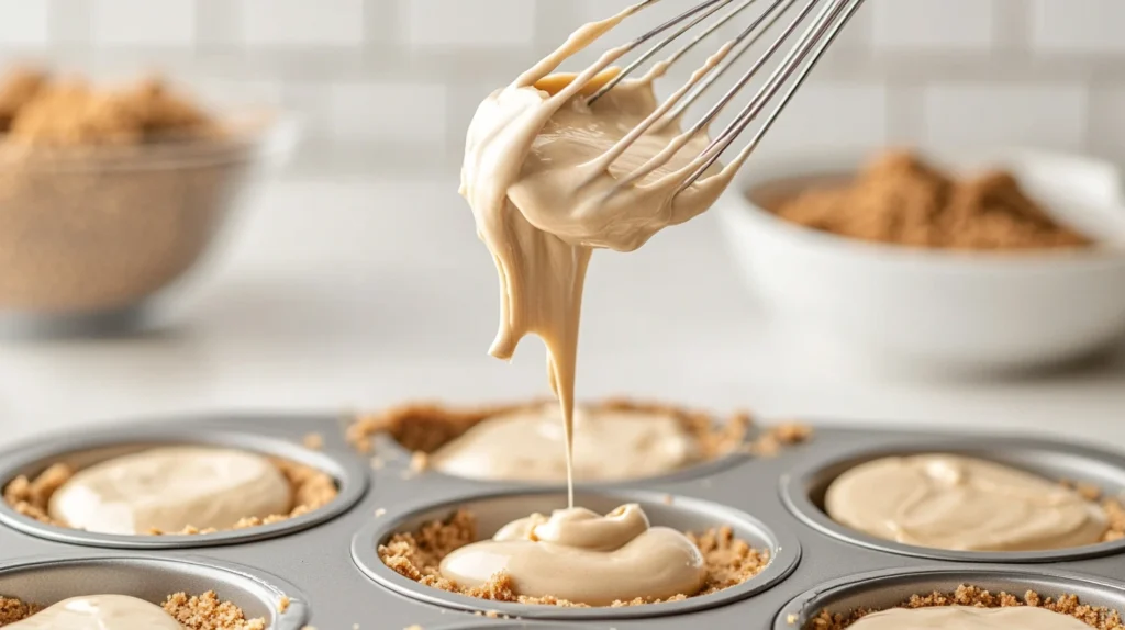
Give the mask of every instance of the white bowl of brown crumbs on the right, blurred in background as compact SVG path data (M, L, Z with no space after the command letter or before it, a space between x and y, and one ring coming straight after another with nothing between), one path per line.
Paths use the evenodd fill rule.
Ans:
M718 204L775 319L857 356L1041 367L1125 332L1115 167L1028 150L885 152L745 170Z

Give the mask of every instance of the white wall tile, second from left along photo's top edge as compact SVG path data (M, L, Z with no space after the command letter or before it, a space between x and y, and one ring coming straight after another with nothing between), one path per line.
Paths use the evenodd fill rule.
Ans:
M191 47L195 0L89 0L91 38L105 46Z

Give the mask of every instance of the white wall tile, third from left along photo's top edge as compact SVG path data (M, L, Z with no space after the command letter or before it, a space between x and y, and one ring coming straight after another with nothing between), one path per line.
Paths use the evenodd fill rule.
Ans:
M363 0L228 0L242 4L248 46L359 46Z

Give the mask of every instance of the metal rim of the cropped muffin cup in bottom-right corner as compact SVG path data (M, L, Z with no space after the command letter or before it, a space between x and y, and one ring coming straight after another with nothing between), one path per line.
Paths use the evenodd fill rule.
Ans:
M884 568L870 570L864 573L858 573L855 575L847 575L844 577L837 577L834 579L825 581L812 588L809 588L793 599L785 602L778 610L777 614L774 617L773 626L771 630L800 630L800 628L808 623L809 619L806 617L810 612L810 608L813 611L819 611L822 602L827 597L831 597L836 594L846 592L849 588L858 588L864 585L875 584L883 579L893 579L897 577L906 576L917 576L917 577L939 577L939 576L965 576L962 584L970 584L973 586L980 586L979 584L973 584L972 575L979 574L982 576L1015 576L1019 578L1027 578L1028 581L1050 578L1054 581L1063 581L1072 584L1079 584L1082 586L1092 586L1098 588L1107 588L1120 592L1122 599L1125 599L1125 583L1116 581L1109 577L1089 575L1081 572L1074 572L1070 569L1059 569L1054 567L1038 567L1029 565L1005 565L1005 564L942 564L932 565L922 567L896 567L896 568ZM925 591L925 590L924 590ZM916 594L922 594L924 591L919 591ZM1012 595L1023 596L1023 593L1011 593ZM1058 596L1061 593L1041 593L1046 596ZM1064 594L1064 593L1062 593ZM891 606L894 608L894 606ZM1107 606L1112 608L1112 606ZM888 610L888 609L881 609ZM1117 610L1117 609L1113 609ZM1125 611L1118 611L1125 613ZM795 614L798 615L796 622L790 623L789 617Z

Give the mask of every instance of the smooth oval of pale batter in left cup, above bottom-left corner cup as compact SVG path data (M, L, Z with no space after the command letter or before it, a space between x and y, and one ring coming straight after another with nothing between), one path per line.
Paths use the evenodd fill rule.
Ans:
M242 450L161 447L74 474L51 497L53 519L102 533L227 529L287 514L292 490L269 459Z

